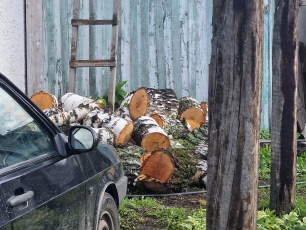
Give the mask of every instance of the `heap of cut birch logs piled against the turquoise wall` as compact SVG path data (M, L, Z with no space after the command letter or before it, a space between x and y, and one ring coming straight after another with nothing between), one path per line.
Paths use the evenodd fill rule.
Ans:
M64 132L81 124L113 145L123 162L129 189L145 186L155 193L205 186L207 106L172 89L139 88L115 112L99 100L67 93L57 99L38 92L31 100Z

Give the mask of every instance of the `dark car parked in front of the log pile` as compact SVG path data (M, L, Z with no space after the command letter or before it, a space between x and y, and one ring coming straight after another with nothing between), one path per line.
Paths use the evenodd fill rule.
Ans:
M119 229L127 178L88 127L68 137L0 74L0 228Z

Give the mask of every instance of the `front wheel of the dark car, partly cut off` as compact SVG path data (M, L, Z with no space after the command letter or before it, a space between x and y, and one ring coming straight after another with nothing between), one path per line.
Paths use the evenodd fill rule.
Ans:
M118 230L119 216L115 200L109 193L105 193L100 204L98 230Z

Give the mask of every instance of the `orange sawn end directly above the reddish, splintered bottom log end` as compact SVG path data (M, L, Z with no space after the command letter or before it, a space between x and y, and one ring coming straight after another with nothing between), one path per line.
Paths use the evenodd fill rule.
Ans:
M142 139L141 146L149 151L170 148L170 140L163 133L149 133Z

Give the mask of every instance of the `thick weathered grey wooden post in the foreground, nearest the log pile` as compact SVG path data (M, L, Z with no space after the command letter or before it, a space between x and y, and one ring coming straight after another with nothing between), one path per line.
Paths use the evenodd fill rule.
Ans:
M263 0L215 0L207 229L256 229Z

